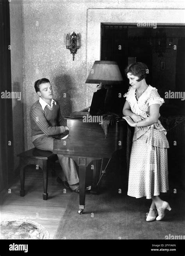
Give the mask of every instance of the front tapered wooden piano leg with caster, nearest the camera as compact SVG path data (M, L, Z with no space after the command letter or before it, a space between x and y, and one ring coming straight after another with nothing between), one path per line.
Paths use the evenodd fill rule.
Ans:
M85 175L86 166L79 166L79 185L80 185L80 204L79 204L79 214L82 214L85 208Z

